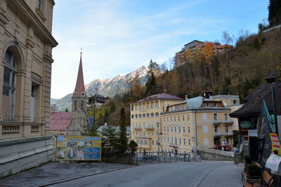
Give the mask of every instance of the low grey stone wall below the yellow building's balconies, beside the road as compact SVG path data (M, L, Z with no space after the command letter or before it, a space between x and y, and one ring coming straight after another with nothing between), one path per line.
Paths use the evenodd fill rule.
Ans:
M234 160L234 153L230 151L218 151L212 148L198 148L197 154L201 156L202 160Z

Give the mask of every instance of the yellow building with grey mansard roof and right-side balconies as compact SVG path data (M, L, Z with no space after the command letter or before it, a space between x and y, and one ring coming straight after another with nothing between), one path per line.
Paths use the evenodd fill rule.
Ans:
M166 107L161 115L164 151L190 154L197 147L213 148L221 142L233 145L233 130L238 129L229 118L230 108L206 92L203 95Z

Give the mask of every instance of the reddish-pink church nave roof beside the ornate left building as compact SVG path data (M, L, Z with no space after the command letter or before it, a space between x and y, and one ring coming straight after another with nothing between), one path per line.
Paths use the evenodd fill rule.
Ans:
M66 130L72 120L72 112L51 112L50 113L50 130Z

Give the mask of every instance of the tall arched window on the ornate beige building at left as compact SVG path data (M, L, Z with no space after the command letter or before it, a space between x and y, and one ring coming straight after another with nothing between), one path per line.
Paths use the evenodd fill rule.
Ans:
M6 50L3 78L2 113L3 120L13 120L15 116L15 83L17 73L17 62L15 54Z

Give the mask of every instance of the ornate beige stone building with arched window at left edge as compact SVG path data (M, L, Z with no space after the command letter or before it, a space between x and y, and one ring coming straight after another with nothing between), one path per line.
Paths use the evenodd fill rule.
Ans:
M0 1L0 176L53 158L49 132L55 2Z

